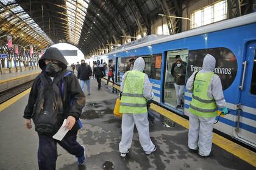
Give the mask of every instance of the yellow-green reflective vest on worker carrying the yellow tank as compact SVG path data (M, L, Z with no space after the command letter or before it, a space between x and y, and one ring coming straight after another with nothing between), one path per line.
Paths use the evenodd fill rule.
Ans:
M147 113L146 98L143 97L145 73L132 70L126 74L121 97L120 112L129 114Z

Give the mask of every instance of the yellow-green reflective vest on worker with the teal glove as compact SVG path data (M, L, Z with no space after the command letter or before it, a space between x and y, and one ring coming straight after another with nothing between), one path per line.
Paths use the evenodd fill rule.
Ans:
M208 87L211 85L213 72L198 72L194 80L192 101L188 111L199 117L216 117L217 106L213 97L207 96Z

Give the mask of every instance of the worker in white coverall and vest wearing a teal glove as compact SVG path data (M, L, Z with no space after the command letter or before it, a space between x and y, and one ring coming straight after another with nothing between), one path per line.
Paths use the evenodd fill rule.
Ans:
M213 73L215 58L207 54L202 70L194 72L188 78L187 90L193 92L190 112L190 129L188 132L188 147L202 157L208 157L212 151L213 123L217 107L227 114L226 101L222 91L221 79Z

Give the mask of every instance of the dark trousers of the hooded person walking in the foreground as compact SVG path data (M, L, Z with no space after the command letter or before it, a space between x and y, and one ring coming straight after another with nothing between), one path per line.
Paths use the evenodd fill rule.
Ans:
M58 157L57 143L69 154L79 157L84 154L84 148L76 141L76 135L66 135L62 141L55 140L48 135L39 135L39 148L37 152L39 169L55 170Z

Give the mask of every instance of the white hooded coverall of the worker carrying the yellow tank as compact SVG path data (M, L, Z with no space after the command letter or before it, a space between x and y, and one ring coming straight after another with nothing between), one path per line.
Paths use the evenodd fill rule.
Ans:
M143 58L139 57L135 60L133 65L133 70L137 70L143 72L145 67L145 62ZM124 82L126 80L127 72L124 73L121 83L121 92L124 89ZM149 82L148 75L144 76L144 84L143 84L143 97L147 99L152 99L154 97L154 93L151 92L152 84ZM123 114L122 117L122 137L121 142L119 143L119 152L127 153L129 152L130 146L132 145L133 138L133 128L134 124L137 127L138 135L140 138L140 144L146 154L150 154L155 149L155 145L152 143L151 138L149 136L149 121L148 121L148 112L141 114Z

